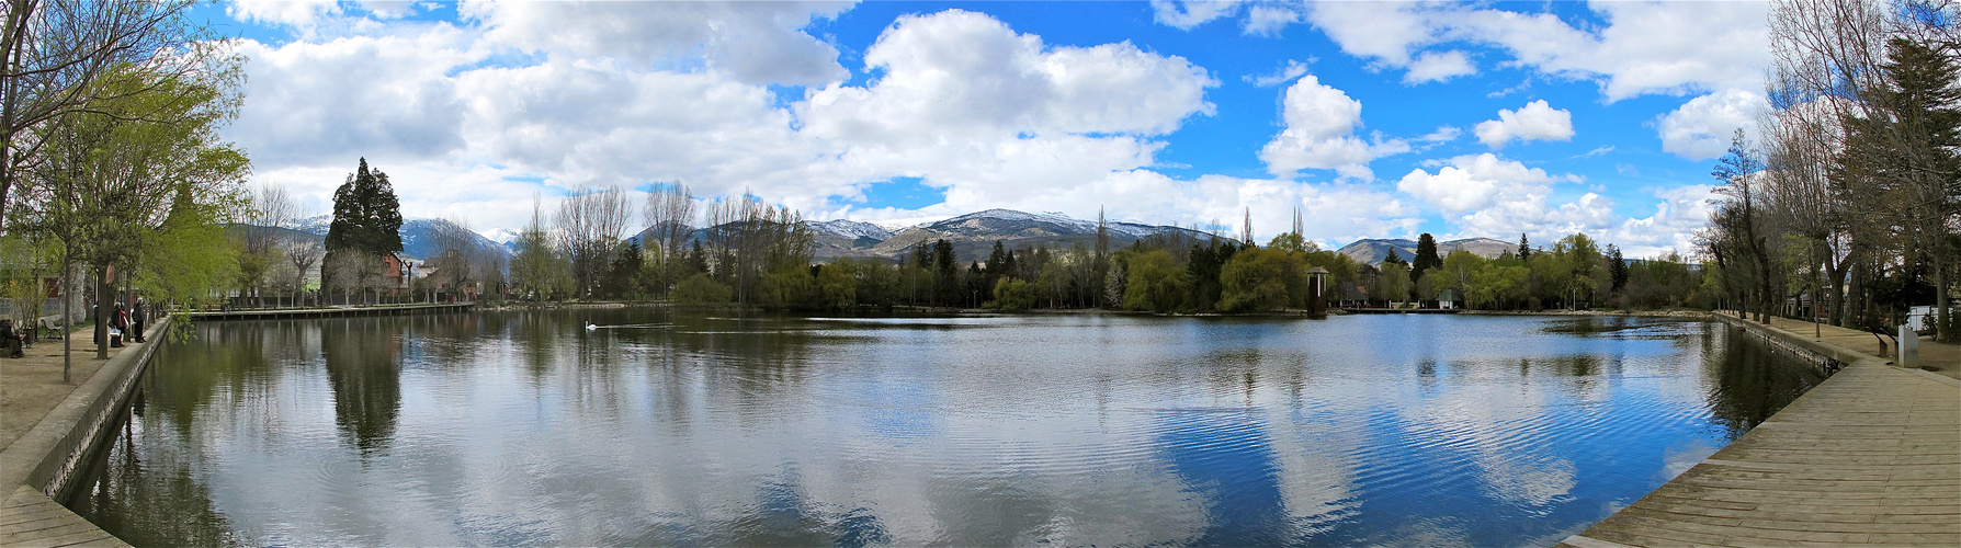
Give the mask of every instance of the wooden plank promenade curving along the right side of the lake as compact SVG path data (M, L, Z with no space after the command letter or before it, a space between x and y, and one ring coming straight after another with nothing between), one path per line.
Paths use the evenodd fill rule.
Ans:
M1937 376L1894 368L1867 333L1818 327L1818 337L1802 321L1751 329L1865 356L1559 546L1961 546L1955 346L1922 341L1922 364Z

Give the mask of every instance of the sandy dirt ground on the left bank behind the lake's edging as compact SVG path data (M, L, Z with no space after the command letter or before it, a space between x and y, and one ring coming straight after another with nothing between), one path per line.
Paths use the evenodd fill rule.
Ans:
M41 423L55 403L75 393L108 360L96 360L94 327L71 333L75 337L73 382L61 382L61 341L41 339L27 346L25 358L0 358L0 450ZM124 346L127 348L127 346ZM110 358L124 348L110 348Z

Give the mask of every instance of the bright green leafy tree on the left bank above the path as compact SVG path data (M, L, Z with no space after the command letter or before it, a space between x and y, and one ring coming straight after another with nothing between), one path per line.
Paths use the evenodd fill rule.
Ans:
M251 162L218 139L218 127L237 112L239 78L239 61L229 59L208 72L118 70L92 82L108 88L100 100L37 129L43 162L22 192L12 229L57 243L63 270L76 262L90 266L96 307L112 309L118 292L110 284L143 272L147 254L169 245L155 233L173 215L188 233L190 219L229 221L231 211L243 209ZM192 215L176 206L220 213ZM235 260L224 237L218 241L227 260ZM159 272L180 274L208 272ZM226 284L235 280L235 270L226 274L233 276ZM108 339L106 323L98 321L96 337ZM106 344L98 344L96 356L108 358ZM63 370L67 378L67 366Z

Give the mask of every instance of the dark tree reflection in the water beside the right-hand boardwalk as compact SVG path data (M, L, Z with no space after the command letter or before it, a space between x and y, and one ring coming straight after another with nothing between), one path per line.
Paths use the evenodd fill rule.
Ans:
M1824 382L1810 364L1734 329L1714 329L1704 339L1702 364L1714 368L1706 372L1710 417L1732 440Z

